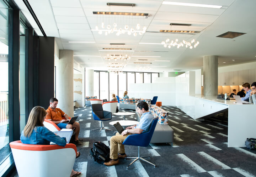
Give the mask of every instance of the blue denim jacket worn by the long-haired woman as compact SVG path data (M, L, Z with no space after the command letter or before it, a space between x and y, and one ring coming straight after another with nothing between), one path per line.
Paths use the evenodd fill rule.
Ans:
M24 144L48 145L50 142L53 142L63 147L66 145L65 137L61 138L60 136L55 135L52 131L48 130L46 127L42 126L34 127L30 137L25 137L22 131L20 139Z

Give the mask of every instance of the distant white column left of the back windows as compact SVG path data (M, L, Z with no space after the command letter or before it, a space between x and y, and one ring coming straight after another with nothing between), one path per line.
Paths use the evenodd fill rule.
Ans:
M93 69L85 69L85 96L86 97L96 96L94 95L94 70Z

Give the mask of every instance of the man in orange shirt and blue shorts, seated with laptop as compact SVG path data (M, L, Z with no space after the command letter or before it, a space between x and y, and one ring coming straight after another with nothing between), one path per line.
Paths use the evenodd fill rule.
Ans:
M50 98L50 106L46 110L48 113L46 115L46 119L52 119L52 121L60 128L60 129L72 129L75 128L75 143L82 144L79 139L79 131L80 131L80 124L78 122L74 122L73 124L68 124L69 116L64 113L61 109L56 108L58 104L58 99ZM65 119L62 119L64 117Z

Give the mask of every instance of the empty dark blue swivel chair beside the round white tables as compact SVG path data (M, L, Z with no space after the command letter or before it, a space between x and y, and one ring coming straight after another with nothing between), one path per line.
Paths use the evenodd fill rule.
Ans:
M101 121L101 127L97 128L97 129L93 129L93 130L100 129L100 131L101 131L102 129L105 129L104 127L102 127L102 121L111 120L112 113L103 110L102 104L92 104L91 107L92 107L92 116L93 116L94 120ZM110 130L110 129L105 129L105 130Z

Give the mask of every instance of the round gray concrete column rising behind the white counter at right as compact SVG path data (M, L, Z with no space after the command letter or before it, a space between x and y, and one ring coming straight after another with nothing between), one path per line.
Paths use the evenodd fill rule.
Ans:
M206 96L218 93L218 56L203 56L203 89Z

